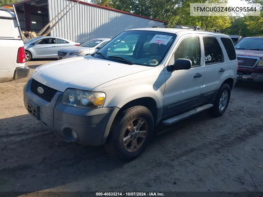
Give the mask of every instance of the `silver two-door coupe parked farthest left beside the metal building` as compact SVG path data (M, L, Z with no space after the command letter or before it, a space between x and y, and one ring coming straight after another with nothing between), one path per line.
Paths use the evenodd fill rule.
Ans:
M79 43L54 36L40 36L24 42L26 61L33 58L57 58L60 49Z

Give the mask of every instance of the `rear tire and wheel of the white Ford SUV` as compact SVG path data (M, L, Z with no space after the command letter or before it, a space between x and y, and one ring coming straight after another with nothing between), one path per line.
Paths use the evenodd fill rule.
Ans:
M222 99L222 96L224 97L224 99ZM216 117L223 115L223 113L226 111L228 107L230 96L231 96L231 89L230 89L229 84L223 83L221 87L219 88L216 98L214 100L214 106L210 110L211 114Z

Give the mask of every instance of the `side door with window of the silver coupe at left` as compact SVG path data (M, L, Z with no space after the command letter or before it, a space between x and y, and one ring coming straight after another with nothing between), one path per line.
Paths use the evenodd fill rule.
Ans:
M58 47L55 38L44 38L37 41L39 45L32 48L36 58L54 58L58 55Z

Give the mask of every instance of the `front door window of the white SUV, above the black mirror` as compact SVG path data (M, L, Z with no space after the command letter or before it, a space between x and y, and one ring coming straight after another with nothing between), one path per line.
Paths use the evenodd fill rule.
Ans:
M198 37L187 37L184 38L176 51L174 52L169 65L174 64L176 59L189 59L192 61L192 67L200 66L200 41Z

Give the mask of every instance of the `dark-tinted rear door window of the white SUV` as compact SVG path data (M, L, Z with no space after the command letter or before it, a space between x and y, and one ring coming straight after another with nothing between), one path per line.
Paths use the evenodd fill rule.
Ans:
M222 49L215 37L203 37L205 64L223 62Z

